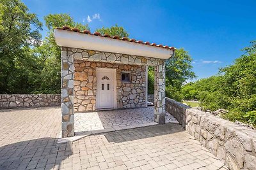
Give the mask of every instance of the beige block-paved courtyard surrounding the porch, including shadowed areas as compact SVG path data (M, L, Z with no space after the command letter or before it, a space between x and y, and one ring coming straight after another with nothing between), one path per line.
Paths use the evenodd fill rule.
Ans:
M57 144L60 108L0 110L0 169L227 169L179 124Z

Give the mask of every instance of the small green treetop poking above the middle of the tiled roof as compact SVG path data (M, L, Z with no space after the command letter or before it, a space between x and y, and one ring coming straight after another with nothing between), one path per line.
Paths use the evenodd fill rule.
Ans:
M100 32L100 34L109 34L111 36L119 36L121 37L129 37L129 34L127 31L125 31L124 27L119 27L117 24L112 27L102 27L100 29L96 29L97 32Z

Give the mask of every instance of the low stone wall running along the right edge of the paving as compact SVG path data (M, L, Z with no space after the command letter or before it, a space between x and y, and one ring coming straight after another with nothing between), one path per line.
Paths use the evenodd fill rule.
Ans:
M166 97L166 111L230 169L256 169L256 131Z

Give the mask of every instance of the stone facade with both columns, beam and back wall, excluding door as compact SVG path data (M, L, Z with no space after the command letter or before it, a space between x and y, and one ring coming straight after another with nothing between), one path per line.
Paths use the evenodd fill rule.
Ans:
M74 60L76 65L75 72ZM147 73L147 66L155 67L154 120L159 124L164 124L165 68L163 59L62 47L62 136L74 136L74 108L76 111L95 110L95 93L97 90L95 89L95 83L97 80L94 67L116 68L117 108L134 108L147 106L147 83L145 83L146 77L144 76ZM131 71L131 83L119 81L120 72L123 70Z

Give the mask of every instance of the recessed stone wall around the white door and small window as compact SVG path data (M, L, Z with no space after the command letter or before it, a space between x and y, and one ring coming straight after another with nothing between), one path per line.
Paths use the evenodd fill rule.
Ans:
M145 107L146 66L74 60L74 111L92 111L96 108L96 67L116 69L117 108ZM122 71L131 73L131 83L121 81Z

